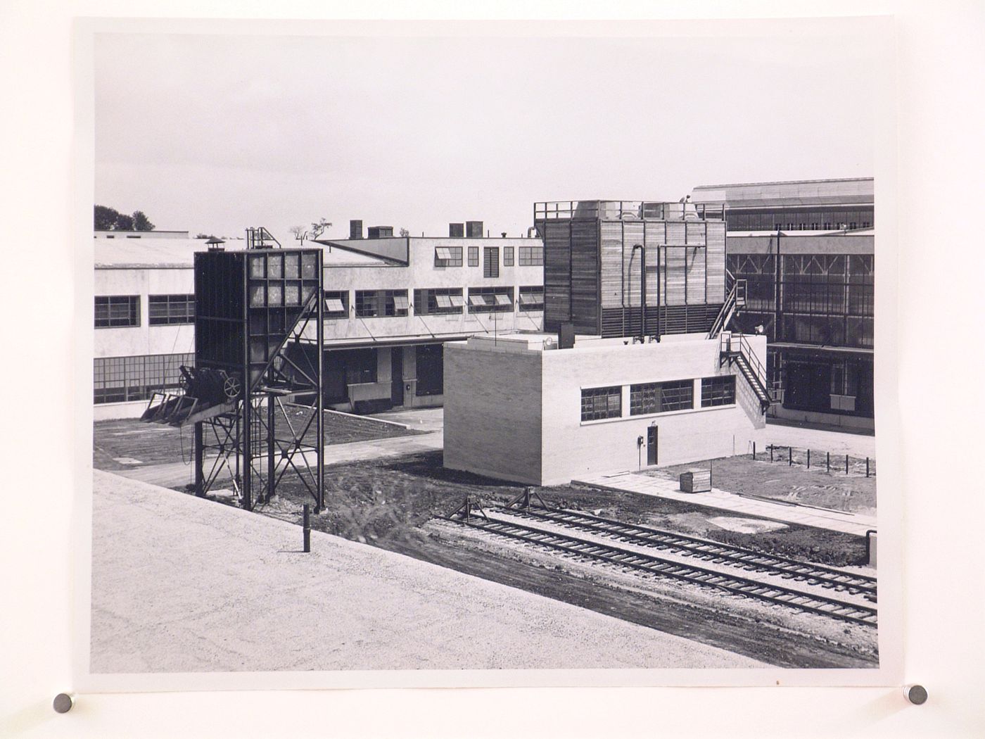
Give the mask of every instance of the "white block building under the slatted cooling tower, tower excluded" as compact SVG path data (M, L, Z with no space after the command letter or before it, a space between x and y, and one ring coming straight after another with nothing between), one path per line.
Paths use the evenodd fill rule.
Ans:
M748 337L759 362L766 337ZM530 485L735 453L764 425L720 337L473 337L445 354L444 465ZM745 447L743 447L745 449Z

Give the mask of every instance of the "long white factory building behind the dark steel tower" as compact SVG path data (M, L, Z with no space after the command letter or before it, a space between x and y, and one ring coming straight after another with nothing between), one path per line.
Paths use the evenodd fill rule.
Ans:
M481 222L451 224L448 236L367 234L352 222L348 239L304 242L323 253L326 405L440 405L445 342L542 329L539 238L491 238ZM178 368L194 363L194 252L244 243L96 236L95 416L139 416L155 391L177 392ZM312 351L313 339L309 330L294 351Z

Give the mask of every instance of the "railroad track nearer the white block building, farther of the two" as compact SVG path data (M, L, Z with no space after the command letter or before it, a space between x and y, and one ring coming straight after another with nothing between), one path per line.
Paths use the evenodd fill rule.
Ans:
M496 509L496 508L493 508ZM709 539L679 534L603 518L589 513L531 504L524 508L498 508L504 513L523 518L545 520L578 531L614 538L644 547L680 552L686 556L712 563L728 563L743 570L771 572L787 579L819 585L835 591L861 594L873 601L877 596L876 578L865 574L845 572L822 565L768 555L752 549L736 547Z

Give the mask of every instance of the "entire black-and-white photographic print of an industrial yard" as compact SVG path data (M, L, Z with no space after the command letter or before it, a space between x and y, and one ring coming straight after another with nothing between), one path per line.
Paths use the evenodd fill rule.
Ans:
M878 675L885 25L235 31L92 37L94 679Z

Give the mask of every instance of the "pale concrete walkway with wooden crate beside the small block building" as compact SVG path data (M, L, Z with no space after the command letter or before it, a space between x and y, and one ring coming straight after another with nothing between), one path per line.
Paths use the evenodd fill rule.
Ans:
M821 510L804 505L771 503L746 498L716 488L712 488L710 493L682 493L678 488L678 483L673 480L664 480L649 475L636 475L631 472L596 475L571 482L591 485L604 490L668 498L672 501L725 510L735 515L755 515L784 523L799 523L802 526L841 531L855 536L865 536L866 531L876 528L874 516L842 513L836 510Z

